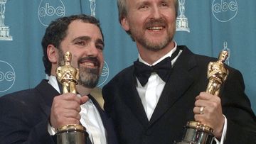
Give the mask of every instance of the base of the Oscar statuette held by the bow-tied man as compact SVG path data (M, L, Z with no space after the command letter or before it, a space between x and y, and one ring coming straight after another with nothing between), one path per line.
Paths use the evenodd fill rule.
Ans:
M175 144L210 144L213 138L213 128L200 122L188 121L182 140Z

